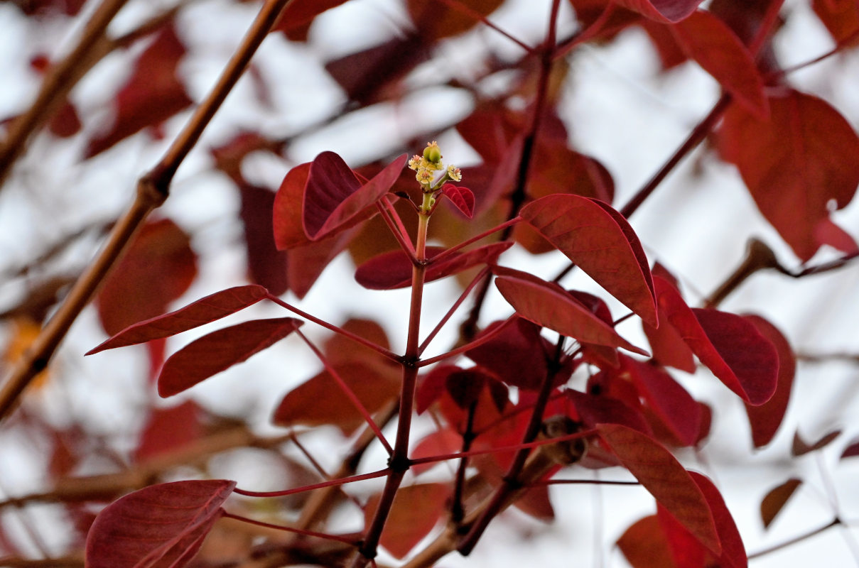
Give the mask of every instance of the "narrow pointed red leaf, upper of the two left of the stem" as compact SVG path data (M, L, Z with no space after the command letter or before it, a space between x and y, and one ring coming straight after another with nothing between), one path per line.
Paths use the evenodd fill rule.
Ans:
M137 345L137 343L176 335L205 323L214 322L216 319L227 317L231 313L256 304L266 295L268 292L264 287L254 284L227 288L198 299L193 304L186 305L179 310L134 323L98 347L90 349L86 354L92 355L105 349Z

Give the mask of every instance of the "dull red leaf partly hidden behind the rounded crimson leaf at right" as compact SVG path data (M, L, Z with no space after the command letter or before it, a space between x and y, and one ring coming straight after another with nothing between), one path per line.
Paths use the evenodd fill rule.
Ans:
M781 331L763 317L746 316L746 320L754 324L758 331L769 339L778 353L778 379L776 393L760 406L746 403L746 414L752 426L752 443L755 448L769 444L781 426L784 413L788 409L790 391L793 389L796 373L796 358L788 340Z

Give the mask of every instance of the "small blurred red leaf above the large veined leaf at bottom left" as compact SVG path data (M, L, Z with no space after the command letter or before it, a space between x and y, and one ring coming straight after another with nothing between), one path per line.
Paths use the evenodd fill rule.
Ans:
M171 408L154 408L140 432L135 461L142 462L196 441L203 434L201 412L193 401Z

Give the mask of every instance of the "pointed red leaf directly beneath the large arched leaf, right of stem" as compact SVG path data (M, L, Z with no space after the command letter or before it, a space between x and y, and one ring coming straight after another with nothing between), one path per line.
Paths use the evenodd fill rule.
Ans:
M496 286L521 317L581 341L647 354L618 335L557 284L518 270L503 269L502 274L496 279Z

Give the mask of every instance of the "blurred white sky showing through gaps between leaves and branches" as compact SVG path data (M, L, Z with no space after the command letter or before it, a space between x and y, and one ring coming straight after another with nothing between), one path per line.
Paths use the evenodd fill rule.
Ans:
M155 5L132 2L119 23L132 26L143 15L155 12ZM543 0L511 0L492 15L491 20L533 44L544 33L548 5ZM560 29L563 37L564 32L573 29L573 24L566 3L562 5L564 21ZM180 66L180 73L192 99L200 100L210 88L244 29L253 20L256 9L255 3L236 5L226 0L200 0L180 16L180 37L192 52L192 57ZM825 28L805 2L789 0L783 14L789 14L789 24L776 39L783 65L799 63L832 47ZM194 248L200 256L200 277L177 306L244 283L245 260L241 226L236 216L237 196L222 176L207 171L210 166L205 150L224 142L240 127L283 136L325 118L343 98L326 76L323 69L326 61L387 39L405 21L403 9L393 0L352 0L318 18L308 45L289 45L280 36L266 39L255 61L272 85L276 108L261 109L250 82L241 82L198 148L180 167L172 196L161 208L161 215L170 216L192 233ZM39 51L62 53L64 46L69 45L69 33L69 27L59 25L55 34L34 33L32 23L15 8L9 3L0 4L0 77L3 77L0 117L21 112L38 87L38 78L27 68L29 57ZM497 46L509 57L518 50L491 30L478 29L450 40L433 62L416 71L411 81L417 86L426 84L428 77L438 74L469 76L473 72L475 46L479 48L486 43ZM125 81L128 61L129 56L107 57L72 93L88 132L109 124L109 100L115 88ZM612 45L585 45L572 56L562 118L567 122L576 149L598 158L612 173L618 207L661 166L691 127L709 111L719 94L716 82L691 63L666 76L658 76L657 71L655 53L637 29L623 33ZM790 82L828 100L854 128L859 126L859 97L856 97L859 51L832 57L792 74ZM311 160L323 150L336 151L357 166L362 160L377 155L369 154L368 149L389 148L391 152L399 152L401 141L414 132L444 124L451 117L464 116L471 108L469 96L442 88L415 95L399 108L378 105L317 134L303 137L290 147L284 160L270 156L252 158L246 168L247 178L275 187L289 167ZM167 140L184 124L186 117L187 113L183 113L168 123ZM458 166L477 160L476 154L455 133L442 134L439 142L446 159ZM131 202L137 177L159 160L166 144L167 141L154 144L146 134L138 135L94 160L80 162L82 141L57 142L48 136L37 137L20 160L15 177L0 194L0 274L9 267L26 263L46 247L46 243L64 239L90 221L113 219ZM413 148L417 150L419 148ZM467 179L463 184L467 186ZM838 212L835 219L859 239L856 201ZM797 265L788 247L758 214L734 168L714 160L701 148L676 168L633 216L631 224L642 239L649 260L658 260L679 276L691 304L712 292L734 269L750 236L764 239L784 265ZM64 265L59 268L80 267L93 254L93 245L77 246L71 251L74 255L64 258ZM812 263L834 256L833 251L824 250ZM503 262L516 268L530 267L544 276L554 274L565 264L560 255L534 259L515 249L503 257ZM389 316L387 326L393 348L398 350L402 343L398 338L405 335L407 293L364 291L352 283L352 270L349 258L339 257L302 301L302 309L334 323L344 321L348 315ZM565 284L606 296L582 275L576 275ZM789 336L799 352L859 353L855 323L859 321L857 290L859 268L856 265L802 281L790 281L781 275L756 275L722 308L754 311L767 317ZM0 309L14 302L20 293L18 285L0 281ZM455 293L453 285L446 282L432 284L428 289L428 304L435 299L438 304L447 305L455 298ZM292 300L294 298L288 298ZM401 308L391 310L391 305ZM435 323L436 312L428 311L424 320L426 329ZM484 313L489 314L484 320L488 323L506 316L509 307L496 294L490 297ZM189 332L172 341L170 347L185 345L193 337L228 323L279 315L283 312L271 306L254 306L224 322ZM311 337L326 337L312 324L308 323L305 329ZM450 344L455 327L451 326L449 331L434 341L436 350L430 347L430 353L437 353L437 349ZM643 342L637 341L640 337L638 323L624 323L621 332L633 342ZM0 329L0 334L4 333L8 330ZM3 337L0 335L0 339ZM89 309L76 323L58 354L56 364L69 382L53 385L27 404L34 410L51 413L52 420L58 424L70 420L70 416L87 416L94 432L110 432L119 447L125 444L127 448L133 444L134 432L142 420L139 409L154 393L141 387L141 376L146 368L142 348L126 348L82 359L81 353L102 339L103 332L94 311ZM176 402L192 396L221 413L252 414L262 432L283 432L267 424L274 405L290 385L310 377L317 369L318 364L307 349L295 338L289 338L247 363L211 378L186 395L176 397ZM844 519L859 521L859 492L856 490L859 459L838 463L841 449L856 436L856 424L850 421L859 410L855 366L800 364L788 419L771 447L755 455L751 455L748 426L739 399L728 393L709 372L700 372L694 377L679 372L675 375L695 396L709 402L716 413L713 432L704 445L702 456L684 455L684 462L687 467L703 471L716 481L734 513L749 552L831 520L821 469L827 472L825 476L832 477ZM582 378L578 380L581 384ZM417 427L427 426L418 423ZM807 440L817 439L835 427L844 427L845 433L821 452L820 457L804 456L791 461L789 444L797 427ZM329 433L314 437L313 442L320 459L331 466L337 455L331 450ZM46 456L38 450L34 451L27 440L0 435L3 455L0 492L20 494L40 488L39 476ZM375 457L378 458L375 463L383 462L381 453ZM216 468L223 471L213 474L237 479L240 486L259 490L280 488L288 482L272 477L264 464L247 467L248 459L246 454L232 460L221 459L216 462L219 464ZM374 462L365 461L365 464L371 463ZM92 467L97 465L92 464ZM439 468L436 473L442 471ZM569 475L586 476L588 472L571 470ZM791 475L800 476L808 483L765 533L758 517L760 499ZM618 479L623 478L623 473L606 470L600 472L600 476ZM356 488L356 491L362 489ZM623 566L622 555L612 543L633 521L655 511L653 500L641 488L575 486L556 487L553 492L557 511L557 522L553 525L533 522L517 512L505 513L490 525L484 541L471 558L451 555L440 565ZM58 523L50 508L31 514L46 523L44 526ZM344 523L353 522L355 519L344 520ZM50 541L57 536L46 535L46 538ZM839 529L833 529L756 560L752 565L761 568L842 566L856 565L856 559Z

